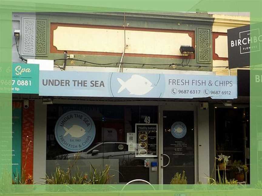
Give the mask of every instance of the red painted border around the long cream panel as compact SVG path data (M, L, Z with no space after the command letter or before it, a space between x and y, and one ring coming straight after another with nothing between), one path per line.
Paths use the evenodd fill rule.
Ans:
M123 30L124 27L119 26L103 26L103 25L88 25L88 24L66 24L66 23L51 23L50 24L50 53L63 53L64 51L57 50L53 43L53 32L58 26L63 27L82 27L82 28L102 28L102 29L118 29ZM171 32L171 33L186 33L190 38L192 38L192 46L195 48L195 31L187 30L173 30L173 29L159 29L159 28L136 28L136 27L126 27L129 31L154 31L154 32ZM107 55L107 56L121 56L122 53L113 52L91 52L91 51L67 51L73 54L89 54L89 55ZM160 54L133 54L125 53L125 56L129 57L156 57L156 58L190 58L190 56L178 56L178 55L160 55ZM193 57L193 58L192 58ZM191 59L195 59L195 54L193 54Z

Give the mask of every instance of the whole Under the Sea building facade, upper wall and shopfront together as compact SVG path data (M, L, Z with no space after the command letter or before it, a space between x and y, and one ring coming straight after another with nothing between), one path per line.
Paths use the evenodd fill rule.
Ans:
M19 40L21 54L35 59L31 64L39 64L38 92L13 94L14 103L21 104L23 111L28 111L24 107L27 100L34 108L31 132L22 127L22 143L25 138L31 141L27 160L32 164L26 165L32 168L27 171L35 182L51 175L57 166L66 169L68 160L78 157L77 166L83 172L89 171L90 165L98 169L110 165L113 184L136 179L169 184L176 172L183 171L188 184L206 184L207 176L216 175L214 157L220 152L234 153L227 149L218 152L216 145L223 143L218 132L223 129L227 135L230 129L240 130L234 125L242 122L243 115L248 116L249 97L238 96L236 76L217 76L212 71L212 15L180 13L160 19L163 15L102 13L65 18L63 14L39 13L19 17L22 28L34 24L35 35L41 38L36 39L32 53L23 45L27 37L22 34ZM123 17L129 26L120 25ZM69 29L71 35L65 33ZM124 31L125 52L119 38L109 42ZM82 34L99 34L106 44L98 45L95 36L90 40L97 43L90 41L87 47ZM69 35L74 40L71 44L66 42ZM150 43L146 37L152 40L157 36L166 37L150 50L141 47ZM136 37L140 41L134 40ZM168 45L172 39L177 43L173 52ZM165 47L159 50L157 44ZM193 47L195 53L183 56L179 51L183 45ZM121 57L122 63L129 64L121 64ZM46 60L55 60L51 70ZM18 61L15 55L13 61ZM223 102L231 106L223 110ZM231 110L233 115L241 110L239 121L223 119ZM248 117L245 120L248 122ZM218 126L225 121L230 121L227 128ZM245 137L247 132L243 132ZM244 148L247 153L247 146L244 142L241 150L235 151L241 154ZM243 160L248 164L246 157Z

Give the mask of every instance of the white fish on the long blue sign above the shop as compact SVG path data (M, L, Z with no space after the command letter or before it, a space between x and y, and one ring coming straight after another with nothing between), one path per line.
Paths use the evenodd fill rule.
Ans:
M117 93L121 93L124 89L127 89L130 95L144 95L153 89L151 87L152 83L149 80L136 74L132 75L126 82L120 78L117 78L117 80L122 85Z

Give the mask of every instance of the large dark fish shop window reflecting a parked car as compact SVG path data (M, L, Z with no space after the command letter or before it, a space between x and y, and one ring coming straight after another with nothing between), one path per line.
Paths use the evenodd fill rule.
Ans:
M94 122L96 130L94 139L81 152L66 150L55 137L56 123L62 115L70 111L85 113ZM70 119L70 115L68 117ZM135 156L135 149L130 148L127 144L127 139L129 139L127 135L135 133L136 123L157 123L157 120L157 106L49 105L47 107L46 172L51 175L56 166L66 169L68 159L78 156L79 161L76 165L82 172L89 172L90 164L98 170L105 165L110 165L110 174L115 175L111 181L113 184L126 183L134 179L150 181L149 168L144 167L146 157ZM64 126L67 134L72 134L70 128L77 130L79 128L66 123ZM63 134L66 134L66 130ZM79 131L81 132L81 128ZM77 138L72 139L77 141ZM154 175L157 175L157 172Z

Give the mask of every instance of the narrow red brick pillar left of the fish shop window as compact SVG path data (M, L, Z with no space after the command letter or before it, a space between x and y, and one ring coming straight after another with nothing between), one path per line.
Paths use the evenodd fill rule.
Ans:
M29 108L22 111L22 168L25 167L25 176L33 176L33 149L34 149L34 101L29 100Z

